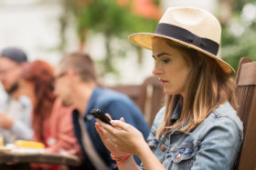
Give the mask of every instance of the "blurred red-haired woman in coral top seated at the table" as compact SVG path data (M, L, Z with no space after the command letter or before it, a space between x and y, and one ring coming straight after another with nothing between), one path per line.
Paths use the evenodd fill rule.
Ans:
M46 152L79 154L74 136L70 107L63 107L54 94L55 70L47 62L36 60L24 65L19 80L20 93L30 97L33 104L33 140L46 145ZM33 165L33 168L59 169L56 165ZM62 168L63 169L63 168Z

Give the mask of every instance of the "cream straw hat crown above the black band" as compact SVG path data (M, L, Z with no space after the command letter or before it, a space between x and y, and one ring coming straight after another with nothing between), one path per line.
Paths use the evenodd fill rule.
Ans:
M201 38L208 38L220 44L221 26L214 15L196 7L170 7L159 21L176 25Z

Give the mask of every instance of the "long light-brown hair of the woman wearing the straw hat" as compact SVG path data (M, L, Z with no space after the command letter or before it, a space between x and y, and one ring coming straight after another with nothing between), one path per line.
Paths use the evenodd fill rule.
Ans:
M170 130L192 131L214 109L226 101L229 101L230 105L237 109L232 75L225 73L215 59L187 46L163 40L182 53L190 67L190 72L187 76L185 97L182 95L166 96L165 118L157 130L157 138L160 135L166 135ZM176 124L170 125L172 113L178 102L182 108L180 118ZM186 122L187 125L185 125ZM182 127L182 125L185 126Z

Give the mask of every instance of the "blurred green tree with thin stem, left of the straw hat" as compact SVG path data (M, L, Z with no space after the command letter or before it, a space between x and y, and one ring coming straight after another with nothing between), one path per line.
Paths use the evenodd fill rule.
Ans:
M101 74L107 72L116 74L117 70L112 65L113 59L123 57L131 48L131 45L112 45L112 39L118 37L128 43L127 36L132 33L155 31L157 21L134 15L130 5L118 5L117 0L94 0L93 3L80 7L80 12L77 13L77 29L80 37L84 35L84 30L105 35L107 54L104 61L100 61L103 68Z

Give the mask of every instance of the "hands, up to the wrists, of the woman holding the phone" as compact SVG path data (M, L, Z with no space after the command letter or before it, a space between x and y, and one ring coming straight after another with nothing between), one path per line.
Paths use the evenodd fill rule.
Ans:
M102 141L105 141L108 144L112 144L115 150L122 152L123 155L127 153L139 155L142 151L142 148L144 148L142 146L147 146L147 144L144 142L144 136L142 135L142 133L138 131L135 127L133 127L133 125L124 123L123 119L112 120L112 125L104 124L99 120L97 121L101 125L101 127L99 125L99 127L101 128L101 134L98 131L99 127L96 126L96 128L98 133L101 135ZM112 150L110 151L112 152ZM114 153L112 154L115 155Z

